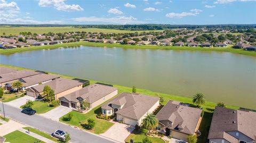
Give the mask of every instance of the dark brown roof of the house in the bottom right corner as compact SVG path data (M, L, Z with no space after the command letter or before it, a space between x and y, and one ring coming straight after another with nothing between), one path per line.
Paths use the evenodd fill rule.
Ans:
M256 113L215 107L208 139L234 140L227 135L228 131L239 131L255 140Z

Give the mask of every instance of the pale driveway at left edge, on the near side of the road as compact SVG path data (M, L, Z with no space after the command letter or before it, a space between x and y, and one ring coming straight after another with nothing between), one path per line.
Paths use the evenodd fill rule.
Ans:
M6 134L16 131L23 127L25 127L25 125L19 122L15 122L13 120L9 120L9 122L0 125L0 136L5 136Z

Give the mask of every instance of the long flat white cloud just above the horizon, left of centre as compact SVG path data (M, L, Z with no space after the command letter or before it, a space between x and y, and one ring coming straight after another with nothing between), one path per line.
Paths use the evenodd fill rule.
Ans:
M101 23L113 23L113 24L141 24L143 21L138 21L133 16L116 16L113 18L97 18L97 17L81 17L72 19L75 22L101 22Z

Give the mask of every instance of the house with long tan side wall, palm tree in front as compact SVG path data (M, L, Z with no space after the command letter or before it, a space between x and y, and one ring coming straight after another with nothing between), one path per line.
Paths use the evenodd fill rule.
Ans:
M82 89L83 83L76 80L59 78L43 83L42 85L28 88L26 90L27 95L35 98L42 96L44 86L50 86L54 91L55 99L59 99L62 96L70 94L71 92Z

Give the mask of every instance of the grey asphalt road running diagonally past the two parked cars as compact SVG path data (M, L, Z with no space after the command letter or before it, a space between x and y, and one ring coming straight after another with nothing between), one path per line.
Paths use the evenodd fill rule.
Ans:
M0 113L3 115L2 103L0 102ZM92 134L89 132L85 132L79 129L75 129L70 127L69 125L59 123L57 121L52 121L50 119L46 119L40 115L26 115L21 113L21 109L12 107L10 105L4 104L5 116L10 117L11 119L17 120L21 123L25 123L30 125L31 127L37 128L39 130L45 131L47 133L52 133L57 129L66 131L70 134L71 142L80 143L80 142L88 142L88 143L112 143L114 141L110 141L109 139L98 136L97 134Z

